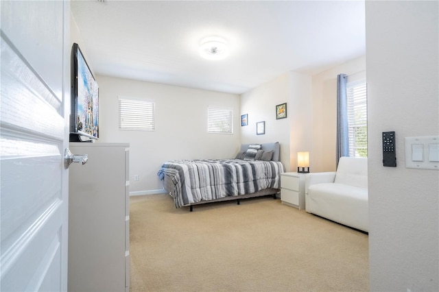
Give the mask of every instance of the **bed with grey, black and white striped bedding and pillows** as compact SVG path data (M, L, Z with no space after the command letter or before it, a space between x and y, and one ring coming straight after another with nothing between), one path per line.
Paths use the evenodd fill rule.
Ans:
M284 166L279 143L243 144L233 159L170 160L157 175L176 208L273 195Z

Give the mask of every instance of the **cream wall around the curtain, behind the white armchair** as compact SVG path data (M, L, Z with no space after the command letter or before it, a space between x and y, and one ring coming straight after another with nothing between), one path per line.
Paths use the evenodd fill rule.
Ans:
M311 171L335 171L337 144L337 75L366 78L366 56L351 60L313 76L313 128Z

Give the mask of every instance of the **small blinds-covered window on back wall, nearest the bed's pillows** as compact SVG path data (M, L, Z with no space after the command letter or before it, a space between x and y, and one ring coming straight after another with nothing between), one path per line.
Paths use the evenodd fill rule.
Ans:
M233 134L233 110L229 108L207 108L207 132Z

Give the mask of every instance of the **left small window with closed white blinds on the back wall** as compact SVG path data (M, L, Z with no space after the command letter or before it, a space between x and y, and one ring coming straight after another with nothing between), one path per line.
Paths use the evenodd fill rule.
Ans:
M119 97L119 129L154 131L154 101Z

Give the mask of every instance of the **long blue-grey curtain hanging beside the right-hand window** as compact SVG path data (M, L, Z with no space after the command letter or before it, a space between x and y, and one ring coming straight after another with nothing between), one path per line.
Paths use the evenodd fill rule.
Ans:
M337 161L342 156L349 156L348 108L346 82L348 75L337 75Z

